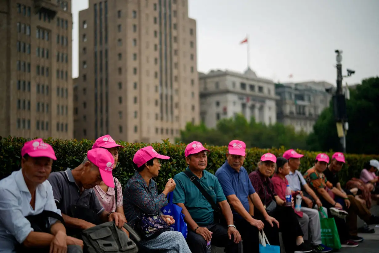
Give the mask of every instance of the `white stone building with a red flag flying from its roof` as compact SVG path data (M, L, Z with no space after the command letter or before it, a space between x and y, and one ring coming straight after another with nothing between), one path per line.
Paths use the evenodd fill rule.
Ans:
M276 123L274 82L257 77L248 68L244 73L211 70L199 73L200 118L207 127L216 127L222 118L242 113L247 121L251 117L265 124Z

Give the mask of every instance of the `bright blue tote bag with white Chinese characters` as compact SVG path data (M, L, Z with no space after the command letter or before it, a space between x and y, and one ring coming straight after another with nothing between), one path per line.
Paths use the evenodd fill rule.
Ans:
M167 196L168 205L162 207L161 211L164 215L170 215L174 218L175 223L170 226L171 231L178 231L183 234L184 239L187 238L188 228L187 223L184 221L184 214L182 214L182 207L172 204L174 193L170 192Z

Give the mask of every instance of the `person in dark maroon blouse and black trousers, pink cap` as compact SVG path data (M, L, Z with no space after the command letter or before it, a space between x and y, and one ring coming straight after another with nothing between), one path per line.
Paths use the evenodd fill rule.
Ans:
M269 212L270 216L279 221L285 251L287 253L312 252L313 249L304 244L303 232L294 209L292 207L286 207L286 202L280 199L275 192L274 184L270 179L270 176L274 174L275 168L276 156L271 153L264 154L258 163L258 169L249 174L251 184L255 192L258 193L265 208L272 204L276 206L275 209L267 212ZM263 223L266 222L263 215L257 209L254 209L254 218L262 220ZM271 245L280 245L279 231L275 224L274 227L271 227L268 223L265 223L264 231Z

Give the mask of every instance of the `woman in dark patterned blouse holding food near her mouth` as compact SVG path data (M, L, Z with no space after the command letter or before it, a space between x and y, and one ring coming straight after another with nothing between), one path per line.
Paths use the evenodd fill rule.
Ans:
M136 171L129 179L124 190L124 209L128 224L135 227L137 217L143 214L159 215L168 225L175 220L169 215L163 215L160 209L168 204L167 195L175 189L174 179L170 178L163 192L158 195L157 183L152 179L158 176L161 165L159 159L169 159L162 156L152 146L139 149L133 157ZM140 242L151 250L164 250L167 253L191 253L182 233L166 231L158 237Z

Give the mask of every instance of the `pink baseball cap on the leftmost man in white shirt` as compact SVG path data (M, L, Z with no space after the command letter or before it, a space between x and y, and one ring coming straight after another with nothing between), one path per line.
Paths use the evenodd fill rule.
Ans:
M41 138L25 142L21 149L21 156L25 156L25 154L30 157L49 157L56 160L53 147L44 143Z

